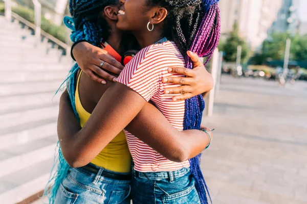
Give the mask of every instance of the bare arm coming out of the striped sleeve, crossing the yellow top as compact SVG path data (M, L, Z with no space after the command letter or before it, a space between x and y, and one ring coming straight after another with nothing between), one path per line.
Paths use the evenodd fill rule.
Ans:
M134 90L114 83L102 95L81 130L74 129L69 135L58 134L64 158L73 167L88 164L137 116L146 103ZM63 116L62 119L68 118ZM60 113L58 124L67 122L62 119Z

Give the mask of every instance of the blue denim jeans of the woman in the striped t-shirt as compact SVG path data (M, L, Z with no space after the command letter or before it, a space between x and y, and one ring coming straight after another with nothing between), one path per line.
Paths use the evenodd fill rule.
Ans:
M133 204L200 204L190 168L170 172L133 170Z

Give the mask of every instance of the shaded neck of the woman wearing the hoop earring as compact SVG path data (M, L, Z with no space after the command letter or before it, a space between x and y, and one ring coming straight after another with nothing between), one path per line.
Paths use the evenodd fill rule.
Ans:
M137 38L138 43L141 46L141 48L144 48L144 47L154 44L155 42L163 38L163 35L159 31L160 29L157 28L156 31L153 30L149 32L146 30L144 32L134 32L133 34Z

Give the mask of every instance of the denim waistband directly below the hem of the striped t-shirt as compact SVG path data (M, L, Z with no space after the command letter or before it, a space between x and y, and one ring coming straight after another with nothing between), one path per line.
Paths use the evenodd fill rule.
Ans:
M178 177L182 177L187 173L190 173L190 167L181 168L176 171L161 171L161 172L140 172L133 170L135 177L149 178L149 179L174 179Z

